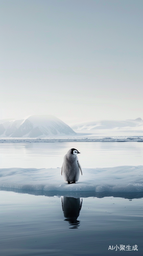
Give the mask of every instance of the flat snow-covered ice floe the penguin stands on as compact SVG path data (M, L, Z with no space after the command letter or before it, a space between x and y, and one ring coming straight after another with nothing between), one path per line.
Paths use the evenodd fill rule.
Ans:
M101 193L143 191L143 166L118 166L110 168L83 168L76 184L67 184L61 168L4 168L0 169L0 187L43 191L95 191Z

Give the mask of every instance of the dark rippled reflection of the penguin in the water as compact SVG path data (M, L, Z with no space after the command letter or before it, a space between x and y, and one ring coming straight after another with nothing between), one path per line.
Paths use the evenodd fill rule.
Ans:
M64 213L65 221L69 222L70 228L78 228L80 221L78 217L80 215L80 210L82 207L82 200L80 198L74 197L63 197L62 199L62 209Z

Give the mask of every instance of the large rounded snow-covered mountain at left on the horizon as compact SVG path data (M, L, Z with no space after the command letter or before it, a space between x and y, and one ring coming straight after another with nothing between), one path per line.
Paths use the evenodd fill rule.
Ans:
M63 121L51 115L34 115L21 120L0 120L0 137L35 138L76 135Z

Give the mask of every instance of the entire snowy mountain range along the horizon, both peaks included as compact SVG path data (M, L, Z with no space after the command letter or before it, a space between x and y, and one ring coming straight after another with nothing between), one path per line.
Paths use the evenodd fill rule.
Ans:
M72 130L73 129L73 130ZM142 136L143 120L101 120L72 124L71 128L57 117L33 115L21 120L0 120L1 138L138 137Z

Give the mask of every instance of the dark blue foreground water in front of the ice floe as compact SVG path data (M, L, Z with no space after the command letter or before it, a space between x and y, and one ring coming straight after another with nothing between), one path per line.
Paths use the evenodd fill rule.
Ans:
M1 256L142 255L142 199L0 197Z

